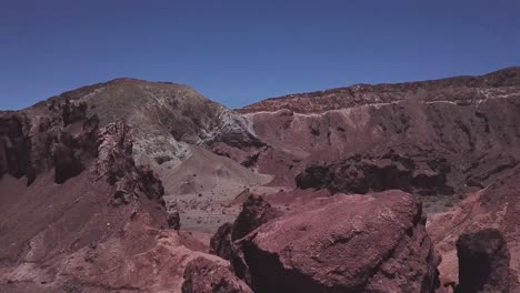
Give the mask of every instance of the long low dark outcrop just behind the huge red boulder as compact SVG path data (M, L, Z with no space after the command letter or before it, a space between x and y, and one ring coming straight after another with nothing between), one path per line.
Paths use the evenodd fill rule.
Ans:
M330 165L311 165L296 178L301 189L328 189L331 192L368 193L399 189L421 195L452 194L447 184L450 164L444 159L400 155L356 155Z

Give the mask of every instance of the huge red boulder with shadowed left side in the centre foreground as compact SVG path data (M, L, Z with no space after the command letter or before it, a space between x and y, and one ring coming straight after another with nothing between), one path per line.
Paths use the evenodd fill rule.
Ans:
M434 292L424 222L401 191L317 199L236 241L232 264L256 292Z

